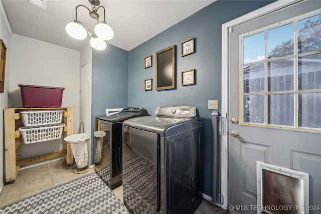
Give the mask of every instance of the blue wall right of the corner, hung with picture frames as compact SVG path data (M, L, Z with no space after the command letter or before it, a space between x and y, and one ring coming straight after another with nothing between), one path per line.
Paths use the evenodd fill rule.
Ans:
M212 130L208 100L219 101L221 112L222 24L272 3L272 1L217 1L175 26L129 51L128 106L146 108L154 115L158 106L186 105L199 109L203 122L203 192L211 193ZM143 32L142 32L143 33ZM195 38L195 53L181 57L181 43ZM155 52L176 45L176 89L155 90ZM152 67L143 59L152 55ZM181 71L195 69L196 84L181 85ZM152 78L152 90L144 91L144 79Z

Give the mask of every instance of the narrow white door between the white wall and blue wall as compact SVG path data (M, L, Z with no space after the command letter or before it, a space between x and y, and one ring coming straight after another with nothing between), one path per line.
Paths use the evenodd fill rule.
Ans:
M80 124L83 124L84 133L90 136L89 87L89 63L87 63L80 69Z

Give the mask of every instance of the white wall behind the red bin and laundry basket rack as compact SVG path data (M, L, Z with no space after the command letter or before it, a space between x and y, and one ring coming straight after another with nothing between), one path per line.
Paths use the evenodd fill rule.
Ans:
M74 108L74 134L79 128L80 52L13 34L11 37L10 107L23 107L19 84L63 87L62 106ZM59 140L25 144L21 159L62 151Z

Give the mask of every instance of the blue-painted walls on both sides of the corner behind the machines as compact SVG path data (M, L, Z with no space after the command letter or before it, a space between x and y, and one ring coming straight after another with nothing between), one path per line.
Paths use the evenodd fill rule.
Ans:
M272 2L216 1L129 52L111 45L104 51L93 50L92 124L95 116L105 113L105 108L143 107L154 115L158 106L197 107L204 131L203 192L212 196L212 110L208 110L208 100L218 100L221 112L222 24ZM192 37L195 53L181 57L181 43ZM176 88L156 91L155 52L171 45L176 45ZM143 60L149 55L152 67L144 69ZM189 69L195 69L195 84L182 86L181 71ZM153 80L152 90L144 91L144 79L149 78ZM93 162L93 137L91 142Z

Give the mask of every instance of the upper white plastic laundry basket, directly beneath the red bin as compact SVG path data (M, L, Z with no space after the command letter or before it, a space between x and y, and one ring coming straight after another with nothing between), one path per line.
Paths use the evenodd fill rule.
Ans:
M61 123L64 110L20 111L25 126Z

